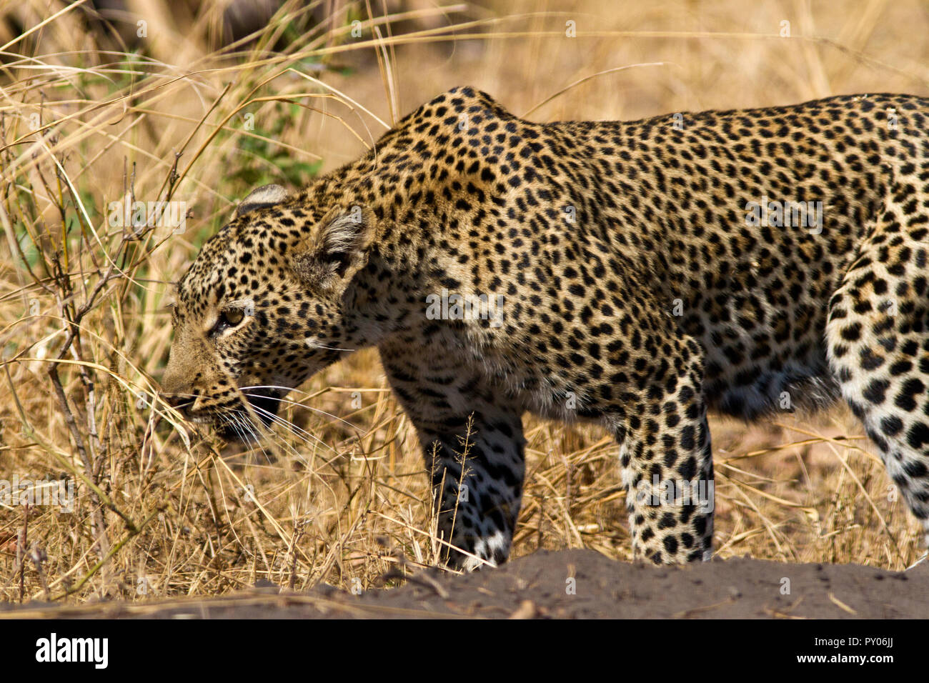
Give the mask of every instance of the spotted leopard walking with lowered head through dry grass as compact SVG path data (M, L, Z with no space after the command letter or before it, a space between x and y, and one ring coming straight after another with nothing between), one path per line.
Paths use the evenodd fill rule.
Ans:
M456 87L238 204L177 282L164 395L257 434L376 348L459 570L509 557L524 414L605 428L631 557L683 564L713 556L708 414L844 400L929 537L927 262L929 99L537 123Z

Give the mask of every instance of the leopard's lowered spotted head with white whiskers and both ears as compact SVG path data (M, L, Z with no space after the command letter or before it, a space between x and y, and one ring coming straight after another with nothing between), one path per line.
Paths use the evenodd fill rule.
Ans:
M376 343L357 306L374 230L370 210L321 205L310 190L249 194L177 282L167 398L244 440L309 375Z

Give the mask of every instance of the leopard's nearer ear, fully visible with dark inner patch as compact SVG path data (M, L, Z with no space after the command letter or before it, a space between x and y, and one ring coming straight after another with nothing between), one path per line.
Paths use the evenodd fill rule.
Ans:
M374 217L359 205L336 206L297 249L293 266L301 280L321 289L343 289L368 262Z

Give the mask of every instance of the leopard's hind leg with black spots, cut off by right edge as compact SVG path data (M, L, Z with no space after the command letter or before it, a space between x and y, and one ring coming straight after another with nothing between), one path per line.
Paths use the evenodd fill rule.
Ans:
M927 178L929 164L891 187L831 298L826 342L844 399L929 541Z

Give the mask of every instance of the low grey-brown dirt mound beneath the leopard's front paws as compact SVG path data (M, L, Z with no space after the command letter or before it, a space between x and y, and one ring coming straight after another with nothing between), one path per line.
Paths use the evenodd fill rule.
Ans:
M0 610L4 610L0 607ZM713 560L688 567L626 564L590 550L538 552L464 576L438 570L355 596L321 587L257 587L221 598L80 607L6 608L4 616L80 618L685 618L888 619L929 615L929 565Z

